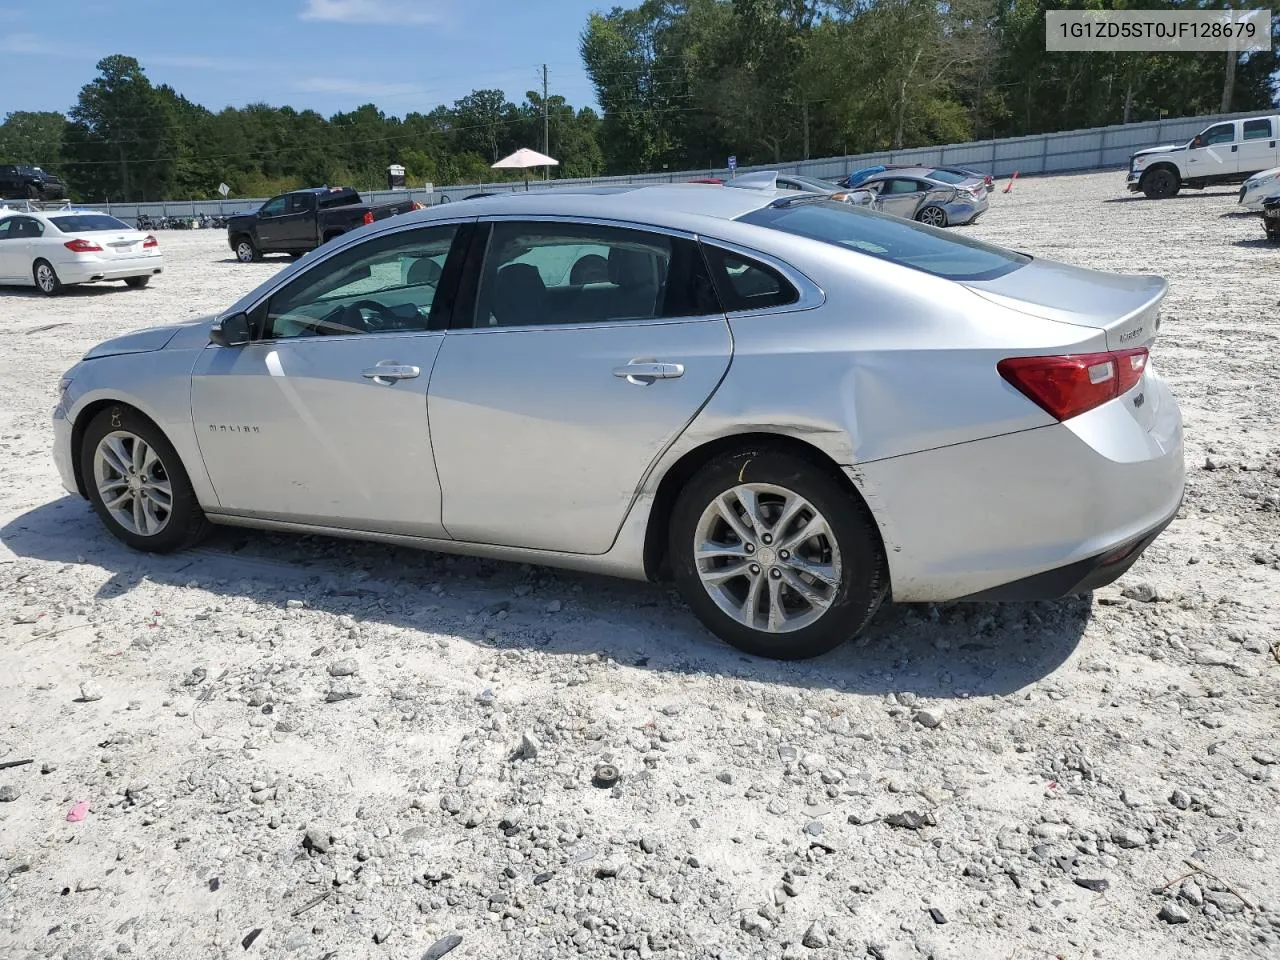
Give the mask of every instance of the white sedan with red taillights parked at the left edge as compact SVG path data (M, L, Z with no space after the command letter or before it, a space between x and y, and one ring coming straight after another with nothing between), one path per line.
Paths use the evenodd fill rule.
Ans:
M146 287L164 271L155 237L96 210L0 206L0 284L54 296L74 283L124 280Z

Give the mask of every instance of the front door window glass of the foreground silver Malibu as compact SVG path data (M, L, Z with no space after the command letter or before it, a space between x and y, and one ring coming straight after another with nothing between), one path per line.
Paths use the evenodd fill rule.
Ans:
M264 339L426 330L453 224L357 243L274 293Z

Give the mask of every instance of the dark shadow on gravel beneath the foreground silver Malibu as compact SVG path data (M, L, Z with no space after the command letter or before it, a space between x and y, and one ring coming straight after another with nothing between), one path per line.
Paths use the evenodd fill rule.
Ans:
M97 599L127 596L143 581L193 585L276 608L302 600L335 617L481 646L600 653L654 671L878 695L1011 694L1071 655L1092 609L1089 596L888 605L858 641L819 658L778 662L713 637L668 584L234 527L218 527L186 552L145 554L113 538L78 497L14 518L0 527L0 543L19 557L105 570Z

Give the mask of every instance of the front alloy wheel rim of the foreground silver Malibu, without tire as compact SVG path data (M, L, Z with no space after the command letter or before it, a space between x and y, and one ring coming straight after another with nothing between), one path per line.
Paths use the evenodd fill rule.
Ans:
M93 480L102 506L122 527L155 536L173 513L173 484L155 449L137 434L115 430L93 453Z

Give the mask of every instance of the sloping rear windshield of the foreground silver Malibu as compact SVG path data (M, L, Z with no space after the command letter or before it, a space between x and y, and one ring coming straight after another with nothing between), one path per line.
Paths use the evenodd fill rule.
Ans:
M1030 262L1024 253L832 200L767 206L739 220L855 250L948 280L991 280Z

